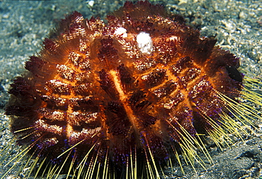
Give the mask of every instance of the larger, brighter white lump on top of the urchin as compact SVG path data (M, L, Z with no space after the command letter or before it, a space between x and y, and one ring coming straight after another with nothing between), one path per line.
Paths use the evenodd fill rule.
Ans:
M143 54L151 54L153 51L153 42L149 33L141 32L137 35L137 47Z

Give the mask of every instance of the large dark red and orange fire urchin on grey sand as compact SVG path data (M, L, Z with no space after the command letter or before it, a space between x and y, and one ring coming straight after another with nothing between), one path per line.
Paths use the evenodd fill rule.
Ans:
M215 42L147 1L126 2L107 25L74 12L11 85L13 132L33 154L89 176L113 163L139 176L130 173L142 161L150 173L220 125L220 94L239 96L239 59Z

